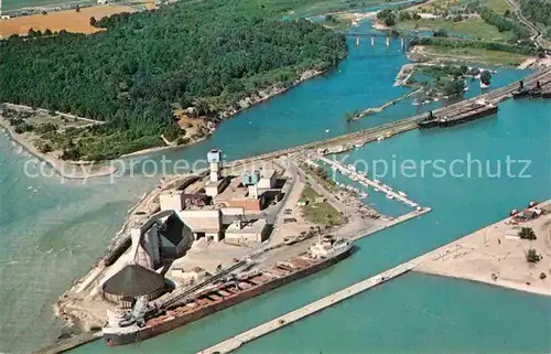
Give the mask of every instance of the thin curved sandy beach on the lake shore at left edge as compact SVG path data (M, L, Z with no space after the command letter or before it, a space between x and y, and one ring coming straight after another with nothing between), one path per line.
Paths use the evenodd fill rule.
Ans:
M107 165L105 163L77 163L77 162L66 162L57 159L51 153L40 152L33 144L32 139L34 135L17 133L13 127L0 116L0 127L6 129L14 142L22 146L26 151L39 158L40 160L46 162L54 169L54 171L62 178L68 180L87 180L99 176L107 176L117 171L114 165Z

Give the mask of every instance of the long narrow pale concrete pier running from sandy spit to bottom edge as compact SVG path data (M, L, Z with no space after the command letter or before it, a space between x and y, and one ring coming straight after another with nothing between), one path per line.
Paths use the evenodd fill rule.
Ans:
M256 339L259 339L266 334L269 334L271 332L274 332L288 324L292 324L307 315L311 315L313 313L316 313L318 311L322 311L323 309L326 309L328 307L334 305L335 303L338 303L343 300L346 300L348 298L354 297L355 294L358 294L363 291L366 291L368 289L371 289L378 285L381 285L390 279L397 278L411 269L415 268L420 262L422 261L422 258L415 258L410 261L407 261L404 264L401 264L395 268L388 269L377 276L374 276L371 278L368 278L366 280L363 280L360 282L357 282L348 288L345 288L341 291L337 291L335 293L332 293L321 300L314 301L310 304L306 304L303 308L300 308L298 310L291 311L287 314L283 314L277 319L273 319L269 322L266 322L263 324L260 324L259 326L256 326L247 332L240 333L236 336L233 336L222 343L218 343L214 346L210 346L208 348L205 348L203 351L197 352L196 354L224 354L224 353L230 353L237 348L239 348L241 345L255 341Z

